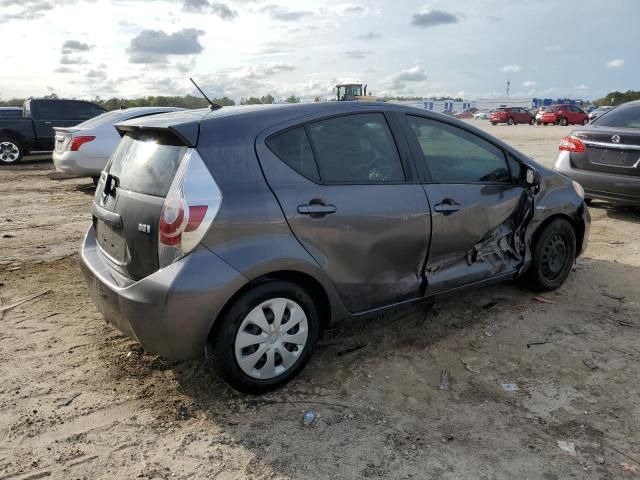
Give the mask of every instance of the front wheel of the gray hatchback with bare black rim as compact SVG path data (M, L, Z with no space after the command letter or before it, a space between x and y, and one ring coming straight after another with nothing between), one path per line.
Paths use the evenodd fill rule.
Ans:
M552 220L535 237L526 283L532 290L548 292L560 287L576 258L576 232L563 219Z

